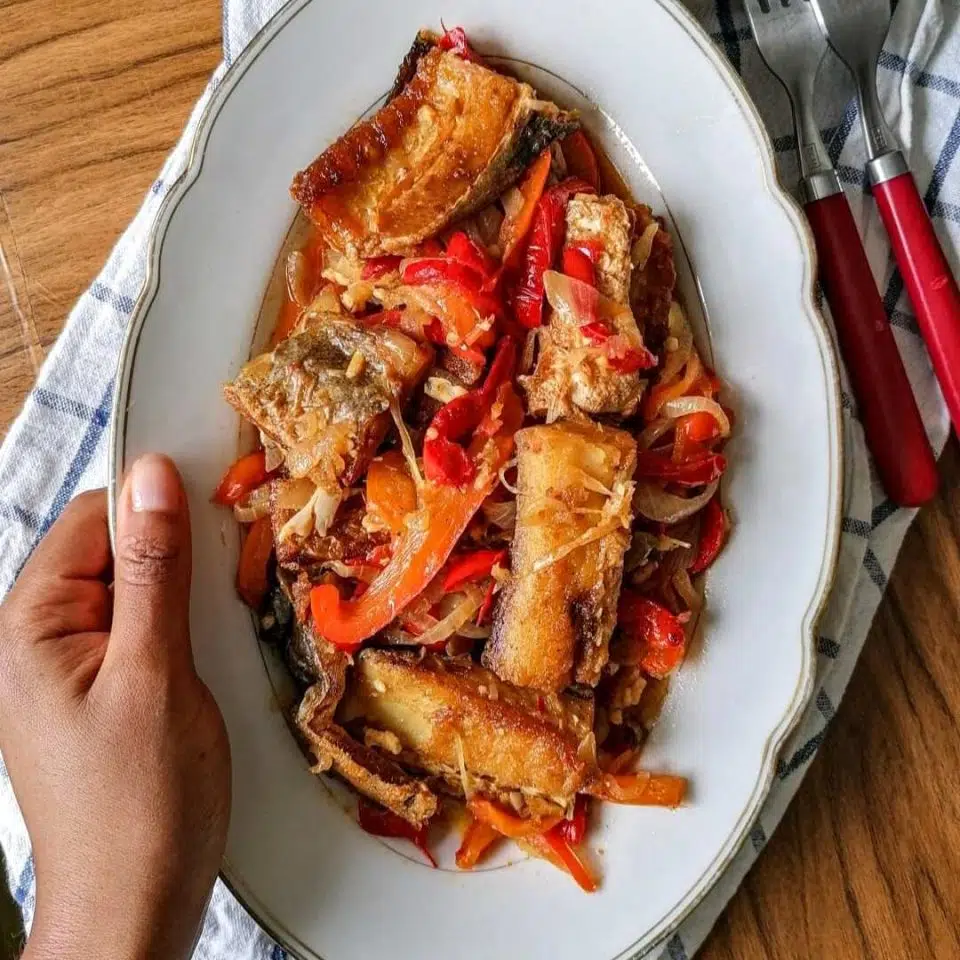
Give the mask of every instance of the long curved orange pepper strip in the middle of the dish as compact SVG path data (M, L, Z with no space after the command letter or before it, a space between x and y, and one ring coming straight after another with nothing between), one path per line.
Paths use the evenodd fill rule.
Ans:
M504 383L469 447L478 464L474 482L464 489L424 484L420 507L397 537L390 563L359 599L342 600L333 584L310 591L310 610L324 638L341 650L358 650L419 596L499 482L497 472L513 455L513 437L522 422L523 405L512 384Z

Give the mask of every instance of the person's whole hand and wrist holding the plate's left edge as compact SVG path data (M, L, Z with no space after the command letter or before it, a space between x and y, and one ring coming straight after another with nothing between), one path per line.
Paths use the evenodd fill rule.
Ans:
M223 719L190 648L190 521L173 464L82 494L0 606L0 749L33 842L24 957L187 957L230 812Z

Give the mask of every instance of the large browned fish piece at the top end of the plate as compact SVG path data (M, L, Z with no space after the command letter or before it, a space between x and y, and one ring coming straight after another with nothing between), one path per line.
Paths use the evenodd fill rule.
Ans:
M352 256L409 254L499 196L573 114L456 54L416 52L412 78L293 179L326 242Z

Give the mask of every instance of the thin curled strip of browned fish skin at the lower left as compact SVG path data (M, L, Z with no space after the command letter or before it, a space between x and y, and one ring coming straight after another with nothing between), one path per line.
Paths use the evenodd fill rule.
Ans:
M424 826L437 812L436 795L392 760L330 723L324 694L312 695L314 689L307 691L297 715L297 726L316 759L313 772L332 771L408 823Z

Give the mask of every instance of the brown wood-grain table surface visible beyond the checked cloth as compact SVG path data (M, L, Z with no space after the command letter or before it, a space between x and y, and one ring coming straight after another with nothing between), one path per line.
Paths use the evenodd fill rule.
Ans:
M0 0L0 431L220 59L215 0ZM826 743L700 954L960 957L960 451Z

